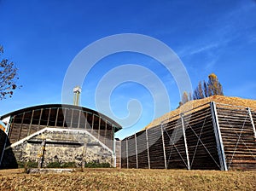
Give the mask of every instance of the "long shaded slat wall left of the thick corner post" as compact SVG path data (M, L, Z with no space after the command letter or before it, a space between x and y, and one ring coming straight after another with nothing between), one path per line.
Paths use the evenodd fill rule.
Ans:
M183 136L183 125L189 153L189 164ZM161 128L163 129L164 142ZM126 137L122 141L122 167L127 167L126 140L128 140L128 166L129 168L164 169L165 154L166 168L168 169L209 169L219 170L218 150L212 125L212 114L209 105L194 113L173 119L162 125L148 129L148 149L146 130L138 132L136 136ZM136 144L137 137L137 158ZM200 140L200 141L199 141ZM163 148L165 146L165 150ZM165 151L165 152L164 152ZM138 162L138 164L137 164Z

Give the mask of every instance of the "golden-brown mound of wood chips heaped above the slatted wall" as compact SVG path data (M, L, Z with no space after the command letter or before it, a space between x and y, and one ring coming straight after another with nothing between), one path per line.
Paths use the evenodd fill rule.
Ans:
M201 105L207 104L211 101L215 101L216 103L228 104L232 106L239 107L250 107L252 110L256 111L256 100L243 99L240 97L228 97L228 96L210 96L201 100L194 100L185 103L182 107L173 110L170 113L166 113L158 119L154 119L150 124L143 128L143 130L154 127L155 125L160 124L162 121L166 119L170 119L174 116L177 116L179 113L184 113L193 108L200 107Z

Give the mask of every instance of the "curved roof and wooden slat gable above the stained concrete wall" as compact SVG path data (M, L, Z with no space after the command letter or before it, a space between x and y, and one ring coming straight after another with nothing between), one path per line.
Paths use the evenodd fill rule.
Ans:
M122 127L102 113L85 107L49 104L27 107L1 116L10 116L9 141L15 143L46 127L88 130L91 135L114 150L114 133Z

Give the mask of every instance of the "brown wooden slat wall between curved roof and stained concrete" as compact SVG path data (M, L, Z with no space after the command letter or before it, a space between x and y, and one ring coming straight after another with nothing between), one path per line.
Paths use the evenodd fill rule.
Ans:
M65 118L64 118L65 115ZM30 136L45 127L86 129L108 148L113 150L112 124L92 113L68 108L44 108L20 113L13 117L10 125L9 140L11 143ZM66 121L64 119L67 119ZM94 119L94 120L92 120ZM94 125L92 125L94 123ZM86 124L86 125L85 125ZM93 130L91 127L93 126Z

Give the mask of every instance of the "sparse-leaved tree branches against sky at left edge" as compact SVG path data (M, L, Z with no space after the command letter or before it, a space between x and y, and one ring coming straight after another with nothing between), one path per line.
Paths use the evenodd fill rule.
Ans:
M0 45L0 100L6 98L6 96L13 96L14 90L20 86L17 85L19 79L17 68L13 61L2 58L3 46Z

